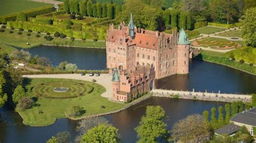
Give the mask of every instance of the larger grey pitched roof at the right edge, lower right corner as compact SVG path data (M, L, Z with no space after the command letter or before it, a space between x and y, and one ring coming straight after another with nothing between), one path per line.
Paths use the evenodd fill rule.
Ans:
M242 111L236 114L230 120L246 125L256 126L256 108L250 109L248 111Z

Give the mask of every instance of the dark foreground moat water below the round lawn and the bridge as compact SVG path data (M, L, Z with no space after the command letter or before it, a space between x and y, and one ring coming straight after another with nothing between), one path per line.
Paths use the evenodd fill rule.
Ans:
M174 100L172 98L152 97L132 106L129 109L105 116L113 126L119 129L124 142L135 142L137 134L134 127L139 125L140 118L145 114L147 105L160 105L164 108L169 117L165 120L168 130L176 121L185 118L193 113L202 113L204 110L210 111L214 106L217 108L224 103L190 101L185 99ZM60 131L69 131L71 137L75 138L77 132L75 128L78 121L69 119L57 119L56 123L46 127L30 127L22 124L22 119L18 113L8 109L0 109L0 142L45 142L52 135Z

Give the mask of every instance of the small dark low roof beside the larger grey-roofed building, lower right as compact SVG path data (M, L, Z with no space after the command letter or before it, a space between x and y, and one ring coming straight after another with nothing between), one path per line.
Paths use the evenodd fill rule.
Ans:
M235 132L239 131L240 130L240 126L238 125L235 125L235 124L228 124L224 127L221 127L221 128L218 128L217 130L215 130L214 132L215 133L218 133L218 134L228 134L228 135L231 135L231 134L234 134Z

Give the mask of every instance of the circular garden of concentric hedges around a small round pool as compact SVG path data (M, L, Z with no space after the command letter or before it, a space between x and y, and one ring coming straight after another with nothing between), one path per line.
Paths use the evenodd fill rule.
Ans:
M46 82L32 88L37 97L45 98L75 98L92 92L93 87L77 82Z

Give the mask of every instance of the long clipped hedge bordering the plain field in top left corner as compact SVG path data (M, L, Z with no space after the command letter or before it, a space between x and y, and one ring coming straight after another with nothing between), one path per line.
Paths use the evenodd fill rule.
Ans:
M49 13L55 11L55 8L53 8L53 6L44 6L42 8L38 8L38 9L31 9L31 10L26 10L23 11L26 15L26 17L35 17L37 15L42 15L44 13ZM18 15L17 13L13 13L11 15L5 15L5 16L1 16L0 17L0 22L1 23L6 23L9 21L15 21L16 20L16 16Z

